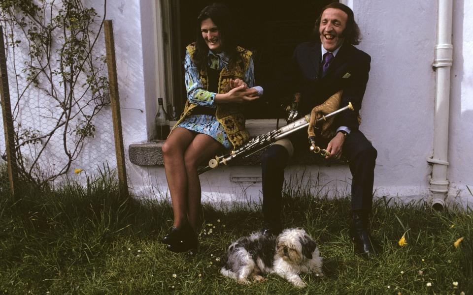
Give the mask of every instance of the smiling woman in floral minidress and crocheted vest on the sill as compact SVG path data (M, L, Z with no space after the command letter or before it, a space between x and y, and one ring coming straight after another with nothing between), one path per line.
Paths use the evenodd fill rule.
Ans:
M162 148L174 213L163 242L172 252L197 249L201 212L197 167L220 148L236 148L249 139L241 107L259 98L255 89L248 89L254 84L251 52L236 46L230 12L223 4L210 4L201 11L197 40L186 48L184 67L188 99Z

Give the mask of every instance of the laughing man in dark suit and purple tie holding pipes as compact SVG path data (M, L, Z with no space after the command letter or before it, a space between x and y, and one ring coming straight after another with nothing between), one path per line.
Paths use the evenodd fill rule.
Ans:
M337 133L328 143L327 150L329 157L343 155L348 159L353 176L350 234L356 250L370 256L373 247L369 236L369 215L377 152L358 129L358 113L368 82L371 57L353 46L360 43L360 31L349 7L340 3L327 5L322 9L315 29L318 30L319 40L296 47L285 83L278 81L263 85L260 91L270 97L299 92L299 115L310 113L314 106L322 104L339 90L343 90L340 107L348 102L353 104L354 112L345 111L335 118L333 126ZM284 87L281 88L281 85ZM277 235L281 231L284 168L294 150L299 148L308 148L306 130L276 142L262 156L263 233L266 235Z

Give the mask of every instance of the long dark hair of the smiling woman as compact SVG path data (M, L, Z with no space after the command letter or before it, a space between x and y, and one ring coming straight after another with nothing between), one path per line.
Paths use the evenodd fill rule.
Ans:
M210 18L217 26L219 38L222 41L223 51L225 51L230 63L237 62L239 55L236 50L236 37L234 31L233 18L228 7L222 3L212 3L202 9L196 24L196 52L194 62L200 68L207 67L208 46L202 37L201 24L204 20Z

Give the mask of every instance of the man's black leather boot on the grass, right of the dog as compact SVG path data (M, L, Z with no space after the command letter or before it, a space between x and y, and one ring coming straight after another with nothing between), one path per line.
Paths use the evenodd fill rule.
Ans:
M355 251L361 253L366 258L372 258L375 254L370 230L370 219L368 213L362 210L353 211L353 220L350 226L350 235L355 243Z

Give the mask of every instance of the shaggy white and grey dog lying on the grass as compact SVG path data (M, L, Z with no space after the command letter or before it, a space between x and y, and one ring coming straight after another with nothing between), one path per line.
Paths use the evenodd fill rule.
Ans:
M279 236L240 237L228 247L226 266L220 272L243 284L276 273L296 287L306 286L300 273L324 275L317 244L303 229L286 229Z

